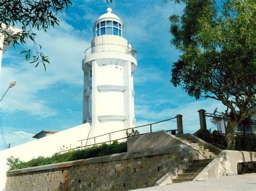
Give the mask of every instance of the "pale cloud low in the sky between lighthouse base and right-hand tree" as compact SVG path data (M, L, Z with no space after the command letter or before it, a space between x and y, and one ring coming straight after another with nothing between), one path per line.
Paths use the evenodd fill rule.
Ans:
M158 102L158 100L156 100ZM160 101L162 102L162 101ZM181 102L182 103L182 102ZM194 101L188 104L181 104L175 108L165 108L159 107L158 109L154 108L154 101L140 101L139 104L136 104L135 107L136 116L142 119L144 122L157 122L167 118L175 117L178 114L183 115L183 128L184 132L195 132L199 129L199 109L205 109L207 112L212 113L215 108L218 108L219 111L225 110L225 107L221 102L214 100L202 100ZM207 118L208 128L214 128L214 125L211 124L210 118ZM138 126L136 124L136 126ZM158 130L163 128L177 129L176 119L173 119L170 122L160 123L154 125Z

